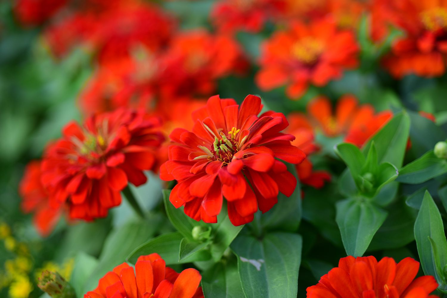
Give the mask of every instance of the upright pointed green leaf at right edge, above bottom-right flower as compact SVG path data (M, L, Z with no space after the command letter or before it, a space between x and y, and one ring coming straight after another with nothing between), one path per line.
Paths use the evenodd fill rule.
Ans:
M429 237L436 243L439 256L434 256ZM446 290L447 285L443 284L443 277L438 274L438 270L443 272L443 268L436 269L436 258L439 257L439 263L442 266L447 264L447 240L441 214L428 191L424 195L421 209L414 223L414 238L416 238L417 252L424 273L436 277L440 285L439 289Z

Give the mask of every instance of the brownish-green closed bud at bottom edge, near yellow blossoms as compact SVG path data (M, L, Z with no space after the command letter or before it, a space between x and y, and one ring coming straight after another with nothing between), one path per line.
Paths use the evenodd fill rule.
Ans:
M76 298L72 286L57 272L44 270L39 277L38 287L54 298Z

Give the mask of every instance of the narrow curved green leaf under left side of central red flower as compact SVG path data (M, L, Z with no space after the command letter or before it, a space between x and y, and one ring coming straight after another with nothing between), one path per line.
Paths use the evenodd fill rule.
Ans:
M183 208L176 209L169 201L169 195L171 193L170 189L163 189L163 200L164 208L166 209L166 214L168 215L169 221L172 225L190 241L194 241L192 236L192 230L195 226L207 226L204 222L197 222L190 218L183 212Z

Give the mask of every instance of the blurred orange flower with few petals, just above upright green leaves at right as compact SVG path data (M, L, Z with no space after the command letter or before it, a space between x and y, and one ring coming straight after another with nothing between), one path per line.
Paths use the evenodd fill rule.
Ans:
M362 147L392 117L391 111L375 113L371 105L358 105L357 99L350 95L340 98L335 113L326 97L316 97L307 110L311 122L326 136L343 134L345 142L357 147Z

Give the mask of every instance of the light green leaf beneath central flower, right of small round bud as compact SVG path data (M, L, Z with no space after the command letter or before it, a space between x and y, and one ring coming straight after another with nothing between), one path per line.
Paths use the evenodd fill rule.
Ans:
M213 229L212 240L210 251L213 260L218 261L223 255L223 252L230 246L233 239L236 238L237 234L239 234L240 230L244 227L238 226L235 227L230 218L228 218L228 213L225 211L226 208L222 208L222 212L217 216L217 223L211 224L211 228Z

